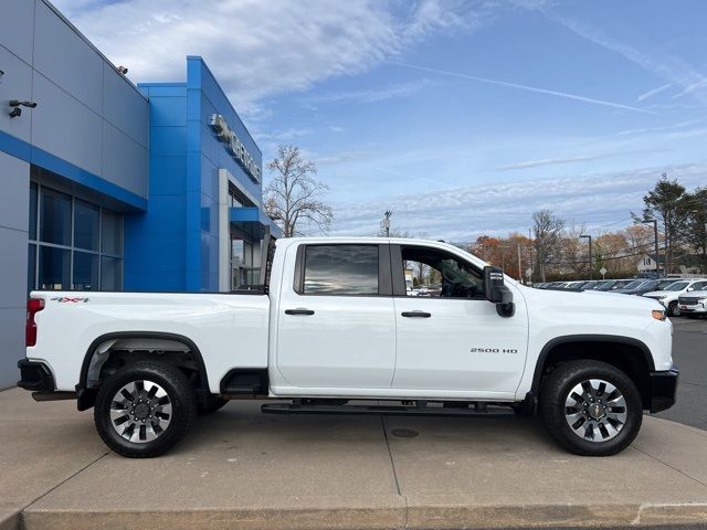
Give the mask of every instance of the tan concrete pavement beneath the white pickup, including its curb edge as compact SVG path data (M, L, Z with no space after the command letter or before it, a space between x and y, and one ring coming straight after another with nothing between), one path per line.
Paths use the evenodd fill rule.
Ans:
M707 432L646 417L609 458L538 422L271 416L234 402L167 456L108 453L75 403L0 393L0 530L393 529L707 521Z

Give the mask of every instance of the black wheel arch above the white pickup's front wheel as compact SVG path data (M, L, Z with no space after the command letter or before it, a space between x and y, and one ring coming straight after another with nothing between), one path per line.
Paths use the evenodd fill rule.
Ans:
M651 349L639 339L614 335L570 335L548 341L535 367L532 394L539 394L544 378L558 363L580 359L606 362L625 372L636 384L644 407L651 407L650 372L655 371Z

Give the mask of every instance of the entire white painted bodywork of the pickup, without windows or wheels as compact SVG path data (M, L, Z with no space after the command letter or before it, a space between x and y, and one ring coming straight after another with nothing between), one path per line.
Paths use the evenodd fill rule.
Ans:
M231 369L267 369L272 396L521 401L542 349L567 336L636 340L655 370L669 370L672 325L652 317L652 299L612 293L525 287L506 277L515 315L500 317L484 299L302 296L295 255L302 244L429 246L486 264L440 242L395 239L281 240L268 296L239 294L36 292L38 342L30 360L50 367L56 390L73 391L84 357L108 333L169 333L199 349L211 393ZM66 303L62 298L87 298ZM289 308L312 317L285 315ZM431 318L401 318L422 310ZM94 344L97 346L97 344Z

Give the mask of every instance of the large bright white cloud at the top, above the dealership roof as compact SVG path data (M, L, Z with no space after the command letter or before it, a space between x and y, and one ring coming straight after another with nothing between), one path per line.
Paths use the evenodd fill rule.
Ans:
M240 110L366 71L437 31L475 28L483 2L55 0L136 82L181 81L201 55Z

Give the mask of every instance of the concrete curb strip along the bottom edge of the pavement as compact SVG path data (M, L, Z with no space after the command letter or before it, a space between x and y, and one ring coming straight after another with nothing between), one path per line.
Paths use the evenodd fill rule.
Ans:
M203 509L188 511L32 510L24 530L150 528L150 530L382 530L510 529L534 527L615 528L699 524L707 504L401 506L386 508ZM17 520L19 529L19 520ZM3 523L4 524L4 523ZM0 530L14 530L0 526Z

